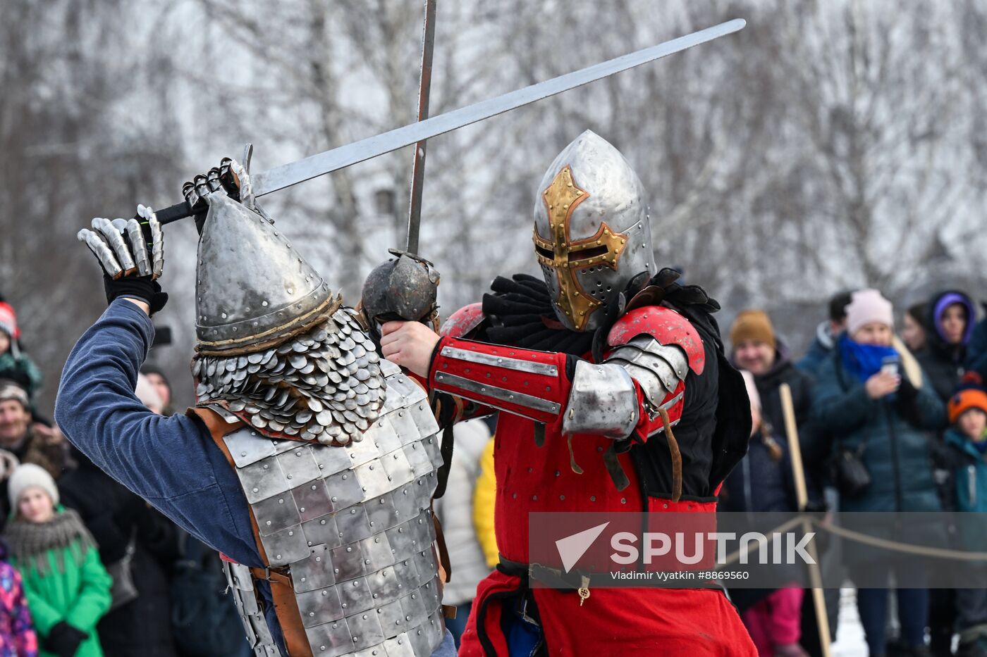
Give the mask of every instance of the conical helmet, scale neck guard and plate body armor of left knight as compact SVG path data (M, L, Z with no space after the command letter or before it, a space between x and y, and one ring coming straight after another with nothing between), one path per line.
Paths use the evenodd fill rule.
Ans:
M444 633L430 512L442 456L425 392L378 356L252 199L196 191L209 203L196 412L236 470L265 558L264 569L224 561L255 653L279 654L264 579L292 657L432 654Z

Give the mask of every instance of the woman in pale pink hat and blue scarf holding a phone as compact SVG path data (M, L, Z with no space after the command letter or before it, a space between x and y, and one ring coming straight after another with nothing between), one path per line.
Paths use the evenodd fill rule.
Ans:
M841 511L940 510L928 430L946 421L946 410L924 381L901 376L891 346L893 327L891 303L877 290L854 293L847 306L847 332L820 368L813 389L813 414L833 437L834 456L856 454L870 474L862 490L841 491ZM846 551L852 579L855 572L866 572L870 581L887 581L894 568L886 557L869 559L866 549L848 546ZM928 654L928 589L898 589L897 598L907 654ZM860 589L857 605L871 654L883 655L887 591Z

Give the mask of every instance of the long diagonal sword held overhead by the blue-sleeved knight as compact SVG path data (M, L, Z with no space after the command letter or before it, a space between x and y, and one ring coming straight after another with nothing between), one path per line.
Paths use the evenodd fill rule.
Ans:
M411 146L424 139L451 132L471 123L490 118L509 110L516 110L542 99L561 94L569 89L600 80L621 71L626 71L647 62L681 52L700 43L711 41L742 30L746 25L743 19L734 19L720 25L700 30L684 37L673 38L657 45L643 48L637 52L622 55L609 61L566 73L557 78L508 92L487 101L474 105L447 111L438 116L426 118L423 121L411 123L388 132L382 132L372 137L360 139L352 143L334 148L316 155L311 155L295 162L290 162L260 174L251 176L254 193L257 196L269 194L272 191L289 187L293 184L304 183L318 176L349 167L351 165L375 158L405 146ZM165 224L190 216L188 203L179 203L157 212L158 220Z

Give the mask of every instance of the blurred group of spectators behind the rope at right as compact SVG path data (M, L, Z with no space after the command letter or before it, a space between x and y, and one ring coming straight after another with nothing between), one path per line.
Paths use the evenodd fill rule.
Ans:
M797 361L763 311L739 313L730 328L754 426L721 510L798 510L780 394L787 385L809 510L987 511L987 320L977 322L971 297L944 291L896 318L878 290L862 289L834 296L828 311ZM921 543L921 528L912 531L904 538ZM893 584L893 560L847 549L856 550L845 558L851 581L866 572ZM761 655L821 654L812 601L800 589L731 593ZM835 636L838 591L826 593ZM858 589L870 654L987 657L985 593Z

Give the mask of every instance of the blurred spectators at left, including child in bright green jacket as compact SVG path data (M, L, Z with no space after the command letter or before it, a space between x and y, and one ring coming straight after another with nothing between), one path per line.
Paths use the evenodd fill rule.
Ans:
M40 385L0 300L0 657L252 655L218 554L72 447ZM173 412L161 370L135 393Z

